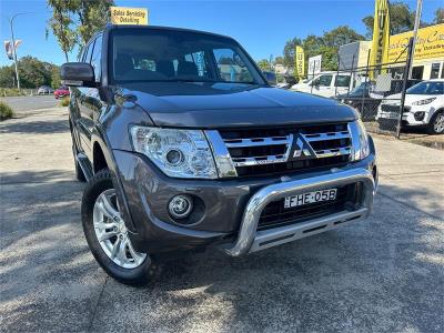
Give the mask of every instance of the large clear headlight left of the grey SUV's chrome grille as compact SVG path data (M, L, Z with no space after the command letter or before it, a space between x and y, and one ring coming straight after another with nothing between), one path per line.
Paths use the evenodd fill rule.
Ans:
M218 178L213 155L202 131L134 125L131 138L134 150L147 155L169 176Z

